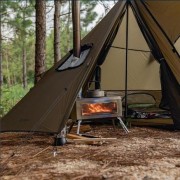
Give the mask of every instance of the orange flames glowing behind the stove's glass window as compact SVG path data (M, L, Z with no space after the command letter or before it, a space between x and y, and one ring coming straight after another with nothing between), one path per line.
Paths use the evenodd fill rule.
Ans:
M115 102L110 103L91 103L82 105L82 115L93 115L101 113L116 113L117 104Z

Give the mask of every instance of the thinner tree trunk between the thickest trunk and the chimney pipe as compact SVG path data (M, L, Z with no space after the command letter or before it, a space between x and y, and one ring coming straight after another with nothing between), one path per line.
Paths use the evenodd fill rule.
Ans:
M60 11L61 0L54 0L55 12L54 12L54 64L61 59L60 51Z

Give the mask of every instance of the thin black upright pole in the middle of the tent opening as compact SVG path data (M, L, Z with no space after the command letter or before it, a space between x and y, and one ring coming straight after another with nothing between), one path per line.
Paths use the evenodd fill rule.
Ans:
M127 119L128 103L127 103L127 84L128 84L128 40L129 40L129 0L126 2L126 63L125 63L125 120Z

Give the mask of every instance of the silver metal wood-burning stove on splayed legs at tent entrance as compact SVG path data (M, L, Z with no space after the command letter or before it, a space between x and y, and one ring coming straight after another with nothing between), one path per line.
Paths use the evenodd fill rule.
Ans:
M76 118L78 120L77 134L80 131L80 124L85 119L117 118L123 129L128 129L122 119L122 102L120 96L99 97L99 98L77 98Z

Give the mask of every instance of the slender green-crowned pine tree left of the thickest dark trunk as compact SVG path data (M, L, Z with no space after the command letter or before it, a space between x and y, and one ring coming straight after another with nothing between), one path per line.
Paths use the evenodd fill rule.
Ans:
M32 20L30 17L34 13L34 7L27 0L9 2L9 7L14 12L13 18L8 20L8 24L14 29L14 38L21 47L22 59L22 84L27 88L27 59L26 59L26 38L31 33Z

